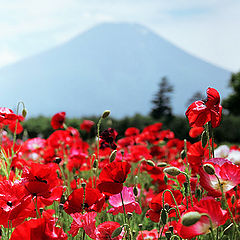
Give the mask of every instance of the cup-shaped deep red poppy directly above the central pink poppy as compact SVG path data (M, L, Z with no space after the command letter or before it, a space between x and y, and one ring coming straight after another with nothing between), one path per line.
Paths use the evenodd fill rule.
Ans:
M100 192L111 196L120 193L123 189L131 165L128 162L112 162L107 164L99 175L97 188Z

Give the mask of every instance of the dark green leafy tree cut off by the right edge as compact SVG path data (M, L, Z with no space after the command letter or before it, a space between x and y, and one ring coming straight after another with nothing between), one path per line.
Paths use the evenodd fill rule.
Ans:
M240 115L240 72L234 73L231 76L229 86L232 88L233 93L224 99L222 102L223 108L228 110L229 114Z

